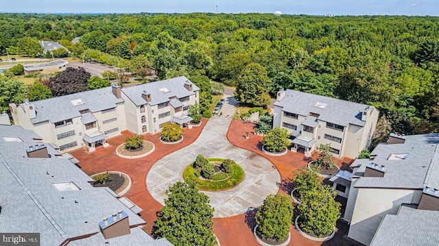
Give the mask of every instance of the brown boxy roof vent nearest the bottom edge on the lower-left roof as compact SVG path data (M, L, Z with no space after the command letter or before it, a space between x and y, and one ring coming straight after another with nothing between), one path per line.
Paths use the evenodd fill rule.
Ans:
M105 217L99 222L99 229L105 239L130 234L128 214L123 210L119 210L117 213L113 213L112 216Z

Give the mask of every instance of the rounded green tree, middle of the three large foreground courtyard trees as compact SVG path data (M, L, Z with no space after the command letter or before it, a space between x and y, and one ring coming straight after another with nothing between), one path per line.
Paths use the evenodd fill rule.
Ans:
M282 241L289 234L294 206L291 197L285 194L268 195L256 213L259 237Z

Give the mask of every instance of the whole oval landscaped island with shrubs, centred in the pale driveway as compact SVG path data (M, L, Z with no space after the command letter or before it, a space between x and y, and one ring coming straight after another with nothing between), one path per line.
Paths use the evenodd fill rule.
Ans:
M222 158L204 158L198 155L195 162L183 171L186 182L195 182L200 190L218 191L233 188L244 180L244 170L235 161Z

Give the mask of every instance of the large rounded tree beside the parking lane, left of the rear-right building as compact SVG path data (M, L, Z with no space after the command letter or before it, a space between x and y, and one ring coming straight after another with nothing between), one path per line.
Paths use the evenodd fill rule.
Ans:
M263 66L257 63L248 64L238 77L235 97L243 103L266 107L270 103L271 79Z

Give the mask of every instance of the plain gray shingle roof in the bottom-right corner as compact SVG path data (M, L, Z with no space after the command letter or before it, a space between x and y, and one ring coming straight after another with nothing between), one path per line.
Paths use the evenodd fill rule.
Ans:
M370 246L439 245L439 212L401 206L385 215Z

